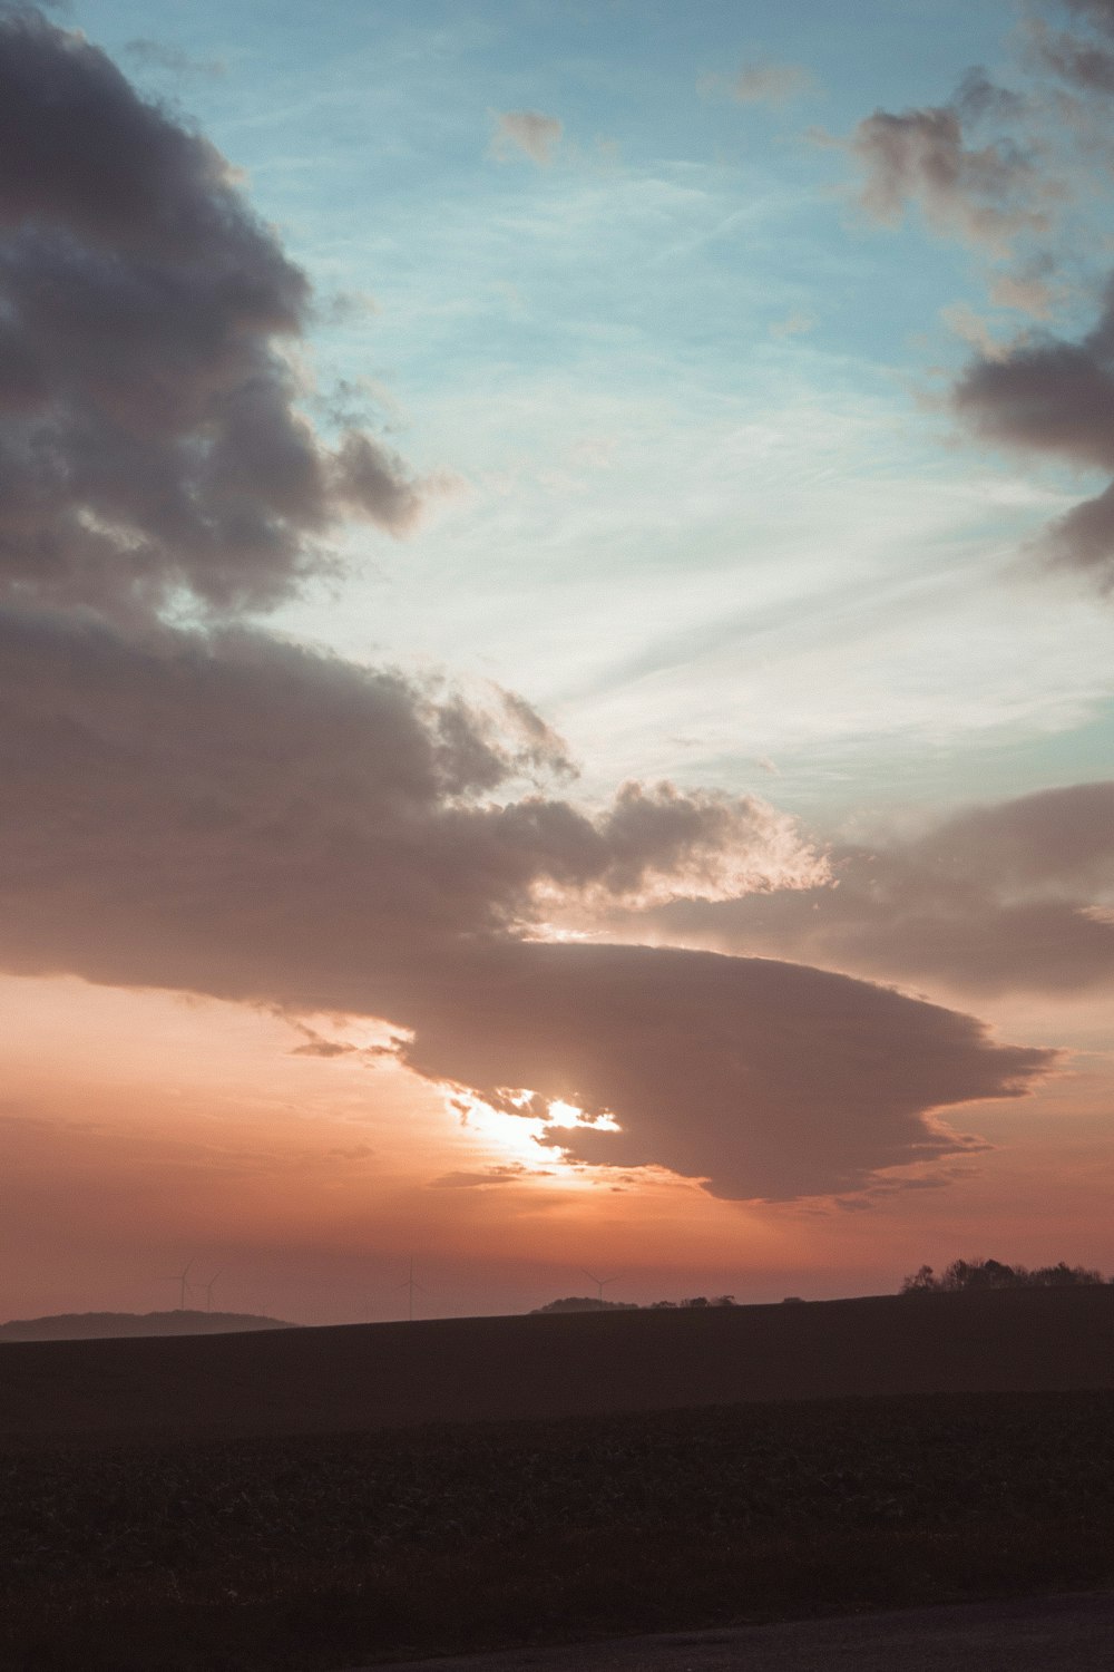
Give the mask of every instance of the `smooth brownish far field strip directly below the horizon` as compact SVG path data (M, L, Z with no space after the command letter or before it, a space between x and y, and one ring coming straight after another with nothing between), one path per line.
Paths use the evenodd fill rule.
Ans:
M1114 1388L1114 1287L0 1343L0 1445Z

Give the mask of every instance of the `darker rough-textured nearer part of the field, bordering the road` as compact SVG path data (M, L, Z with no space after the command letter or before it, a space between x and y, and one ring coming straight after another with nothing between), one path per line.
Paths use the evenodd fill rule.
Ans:
M361 1660L1114 1582L1114 1394L0 1458L0 1665Z

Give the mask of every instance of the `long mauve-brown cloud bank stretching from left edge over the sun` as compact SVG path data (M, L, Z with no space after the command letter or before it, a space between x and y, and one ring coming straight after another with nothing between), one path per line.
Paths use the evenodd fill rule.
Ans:
M1051 1063L817 970L523 940L553 895L700 893L717 858L822 868L747 799L628 786L590 816L516 793L565 766L521 704L484 714L259 634L135 644L13 615L0 704L8 970L382 1017L414 1070L611 1109L621 1135L554 1139L728 1195L947 1154L930 1110Z

